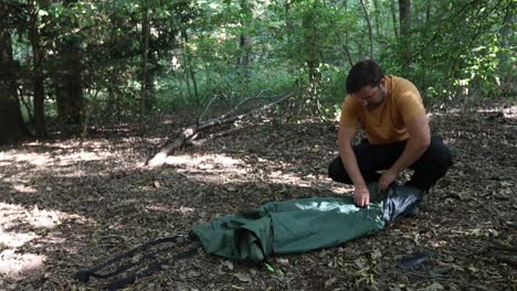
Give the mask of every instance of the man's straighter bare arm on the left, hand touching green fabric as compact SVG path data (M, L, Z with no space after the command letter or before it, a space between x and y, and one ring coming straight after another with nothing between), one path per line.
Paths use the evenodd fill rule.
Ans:
M342 165L347 170L348 176L354 183L354 202L358 206L366 206L370 203L370 193L365 183L365 179L359 171L356 154L354 153L351 142L356 134L356 128L339 127L338 132L338 150Z

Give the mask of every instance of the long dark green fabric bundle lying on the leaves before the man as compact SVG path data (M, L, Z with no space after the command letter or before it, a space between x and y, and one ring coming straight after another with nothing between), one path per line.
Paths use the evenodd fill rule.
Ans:
M392 185L357 207L350 196L271 202L254 211L226 215L193 228L207 252L231 260L261 262L272 256L334 247L374 234L404 216L422 198L413 187Z

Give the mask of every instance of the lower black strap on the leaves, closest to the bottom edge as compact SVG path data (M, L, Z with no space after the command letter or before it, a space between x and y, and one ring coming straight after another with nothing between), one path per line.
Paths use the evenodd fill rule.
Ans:
M145 269L141 272L135 272L135 273L131 273L131 274L127 276L126 278L123 278L120 280L110 282L109 284L106 285L106 289L107 290L118 290L118 289L125 288L126 285L134 283L137 279L146 278L146 277L149 277L149 276L160 271L162 266L170 265L170 262L172 262L172 261L187 259L187 258L192 257L193 255L198 254L201 250L202 250L202 245L200 242L198 242L192 248L190 248L190 249L188 249L188 250L186 250L183 252L180 252L180 254L176 255L172 258L163 259L163 260L160 260L158 262L149 265L149 267L147 267L147 269Z

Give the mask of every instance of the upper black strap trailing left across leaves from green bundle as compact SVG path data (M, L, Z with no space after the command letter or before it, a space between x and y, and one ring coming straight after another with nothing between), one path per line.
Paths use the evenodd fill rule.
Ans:
M131 250L128 250L126 252L123 252L123 254L118 255L117 257L106 261L105 263L95 266L95 267L89 268L87 270L78 271L78 272L75 273L75 278L77 280L80 280L81 282L86 283L89 280L89 277L106 279L106 278L109 278L109 277L113 277L113 276L117 276L117 274L119 274L119 273L122 273L122 272L124 272L124 271L139 265L144 260L154 258L156 255L158 255L160 252L163 252L163 251L168 251L168 250L170 250L170 249L172 249L175 247L159 249L157 251L154 251L151 254L143 256L137 262L131 262L131 263L128 263L128 265L125 265L125 266L120 266L115 271L112 271L112 272L108 272L108 273L102 274L102 273L96 273L96 272L104 269L104 268L106 268L107 266L110 266L110 265L113 265L115 262L118 262L118 261L123 260L124 258L133 257L135 254L137 254L139 251L143 251L143 250L146 250L149 247L157 246L157 245L160 245L160 244L163 244L163 242L170 242L170 241L178 242L178 240L180 240L180 239L183 239L183 241L190 241L190 238L188 236L186 236L186 235L176 235L176 236L163 237L163 238L159 238L159 239L156 239L156 240L152 240L152 241L148 241L146 244L143 244L143 245L131 249Z

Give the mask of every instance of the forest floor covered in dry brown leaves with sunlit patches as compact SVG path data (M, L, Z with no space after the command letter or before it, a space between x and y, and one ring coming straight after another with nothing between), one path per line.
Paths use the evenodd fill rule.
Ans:
M430 119L455 163L416 217L273 258L275 272L201 252L128 289L517 290L517 105ZM271 201L351 195L327 177L337 123L278 120L244 122L155 169L141 164L193 120L163 117L145 136L120 126L0 148L0 289L96 290L106 280L80 283L74 273L151 239ZM419 252L429 260L397 267Z

